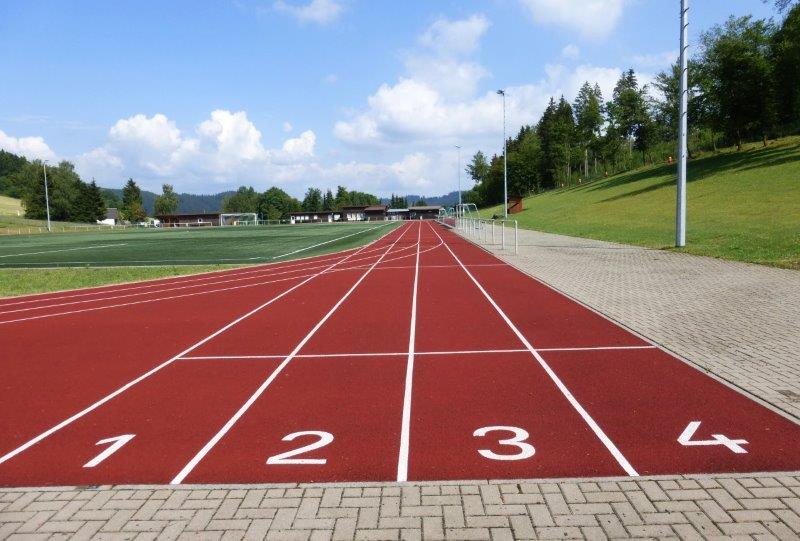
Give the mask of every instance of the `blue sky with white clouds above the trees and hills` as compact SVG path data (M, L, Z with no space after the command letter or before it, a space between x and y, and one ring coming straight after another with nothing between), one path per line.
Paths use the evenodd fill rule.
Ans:
M691 34L760 0L694 0ZM0 148L103 186L455 189L457 151L677 55L677 0L0 2Z

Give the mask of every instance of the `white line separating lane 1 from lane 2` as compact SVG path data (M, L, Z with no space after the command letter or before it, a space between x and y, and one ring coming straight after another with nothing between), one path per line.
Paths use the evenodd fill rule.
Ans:
M208 440L208 442L197 452L197 454L195 454L192 457L192 459L183 467L183 469L181 469L181 471L178 472L178 475L176 475L172 479L172 481L170 481L170 484L179 485L183 482L184 479L186 479L186 476L189 475L192 472L192 470L194 470L197 464L199 464L200 461L203 460L203 458L205 458L205 456L209 453L209 451L211 451L211 449L213 449L214 446L217 443L219 443L219 441L223 437L225 437L225 435L230 431L230 429L233 428L233 425L235 425L239 421L239 419L241 419L241 417L247 412L247 410L250 409L250 407L256 402L256 400L258 400L259 397L262 394L264 394L264 391L266 391L267 388L270 386L270 384L272 384L272 382L275 381L275 378L277 378L278 375L283 371L283 369L289 365L292 359L294 359L295 356L297 356L297 354L300 352L303 346L305 346L306 343L309 340L311 340L311 338L317 333L317 331L328 321L328 319L336 312L336 310L339 309L339 307L344 303L344 301L346 301L347 298L350 297L353 291L355 291L356 288L359 285L361 285L361 282L363 282L364 279L367 276L369 276L370 272L372 272L372 269L374 269L378 265L378 263L381 262L383 257L392 250L395 244L397 244L397 242L403 237L403 235L405 235L406 231L408 231L408 228L405 228L403 233L400 236L398 236L397 239L395 239L395 241L391 244L391 246L389 246L389 248L383 254L381 254L381 257L378 258L378 260L375 261L375 263L373 263L372 266L361 275L361 277L356 281L356 283L354 283L352 287L350 287L350 289L347 290L347 293L345 293L344 296L341 299L339 299L339 301L335 305L333 305L333 307L330 310L328 310L328 313L325 314L322 317L322 319L320 319L317 322L316 325L314 325L314 327L308 332L308 334L306 334L305 337L303 337L303 339L300 340L300 343L298 343L297 346L295 346L295 348L292 350L292 352L286 356L283 362L281 362L281 364L279 364L278 367L272 371L269 377L267 377L267 379L264 380L264 382L258 387L258 389L256 389L256 391L250 396L250 398L248 398L247 401L244 404L242 404L242 407L240 407L236 411L236 413L234 413L233 416L230 419L228 419L228 421L222 426L222 428L220 428L219 431L216 434L214 434L214 436L210 440Z

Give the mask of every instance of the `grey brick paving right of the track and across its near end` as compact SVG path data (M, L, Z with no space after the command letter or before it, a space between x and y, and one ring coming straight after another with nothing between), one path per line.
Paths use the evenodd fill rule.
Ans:
M527 231L521 244L507 261L800 417L800 272ZM800 472L0 489L0 540L630 537L800 539Z

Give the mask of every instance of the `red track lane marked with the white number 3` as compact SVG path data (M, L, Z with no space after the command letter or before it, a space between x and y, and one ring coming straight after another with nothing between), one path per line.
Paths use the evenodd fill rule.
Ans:
M445 247L420 262L417 349L521 347L453 263ZM410 419L409 480L625 474L528 352L418 356ZM474 435L497 426L524 430L523 446L499 443L509 430ZM534 454L519 460L481 453L513 455L525 445Z

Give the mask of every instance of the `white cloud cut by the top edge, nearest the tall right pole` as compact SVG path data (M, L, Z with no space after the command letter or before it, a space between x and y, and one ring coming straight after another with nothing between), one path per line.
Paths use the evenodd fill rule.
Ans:
M616 28L628 0L519 0L534 21L556 24L590 39Z

